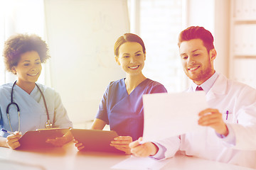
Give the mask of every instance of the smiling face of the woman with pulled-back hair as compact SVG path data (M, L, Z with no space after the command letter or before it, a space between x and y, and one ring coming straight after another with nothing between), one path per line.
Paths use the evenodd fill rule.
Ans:
M129 75L142 74L146 55L142 50L142 45L138 42L125 42L119 47L119 55L115 57L124 72Z

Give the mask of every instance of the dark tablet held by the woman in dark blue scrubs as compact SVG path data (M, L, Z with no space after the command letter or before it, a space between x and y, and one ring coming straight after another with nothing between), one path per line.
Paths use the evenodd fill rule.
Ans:
M110 146L110 142L118 136L114 130L71 129L70 132L85 147L82 151L124 153Z

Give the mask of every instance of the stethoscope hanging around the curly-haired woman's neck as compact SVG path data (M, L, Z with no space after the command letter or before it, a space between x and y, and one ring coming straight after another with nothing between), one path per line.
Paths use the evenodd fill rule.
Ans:
M7 106L6 108L6 114L7 114L7 118L8 118L8 121L9 121L9 125L10 125L10 128L11 128L11 121L10 121L10 117L9 117L9 108L11 105L15 105L16 108L17 108L17 111L18 111L18 132L20 132L21 130L21 117L20 117L20 109L18 107L18 104L14 102L14 85L16 84L16 81L14 82L12 88L11 88L11 103L9 103L9 105ZM43 96L43 92L41 91L41 89L39 88L39 86L36 84L38 90L40 91L41 95ZM53 127L53 123L50 123L50 117L49 117L49 113L48 113L48 108L47 108L47 105L46 105L46 98L43 96L43 103L46 107L46 113L47 113L47 122L46 122L46 128L49 129L49 128L52 128ZM14 132L13 129L11 128L11 132Z

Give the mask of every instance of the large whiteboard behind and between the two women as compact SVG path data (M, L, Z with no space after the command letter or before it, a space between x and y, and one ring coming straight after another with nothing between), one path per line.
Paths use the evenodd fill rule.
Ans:
M45 0L50 84L73 123L93 120L110 83L125 73L114 42L129 33L127 0Z

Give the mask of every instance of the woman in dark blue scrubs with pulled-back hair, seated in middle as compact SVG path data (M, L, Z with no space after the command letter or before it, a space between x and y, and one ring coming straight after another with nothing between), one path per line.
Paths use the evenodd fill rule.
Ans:
M126 33L114 44L115 61L126 72L124 79L112 81L102 97L92 129L102 130L110 125L119 137L111 142L123 152L130 154L129 143L143 135L144 113L142 96L144 94L166 93L164 85L147 79L142 74L146 49L138 35ZM82 149L82 144L76 144Z

